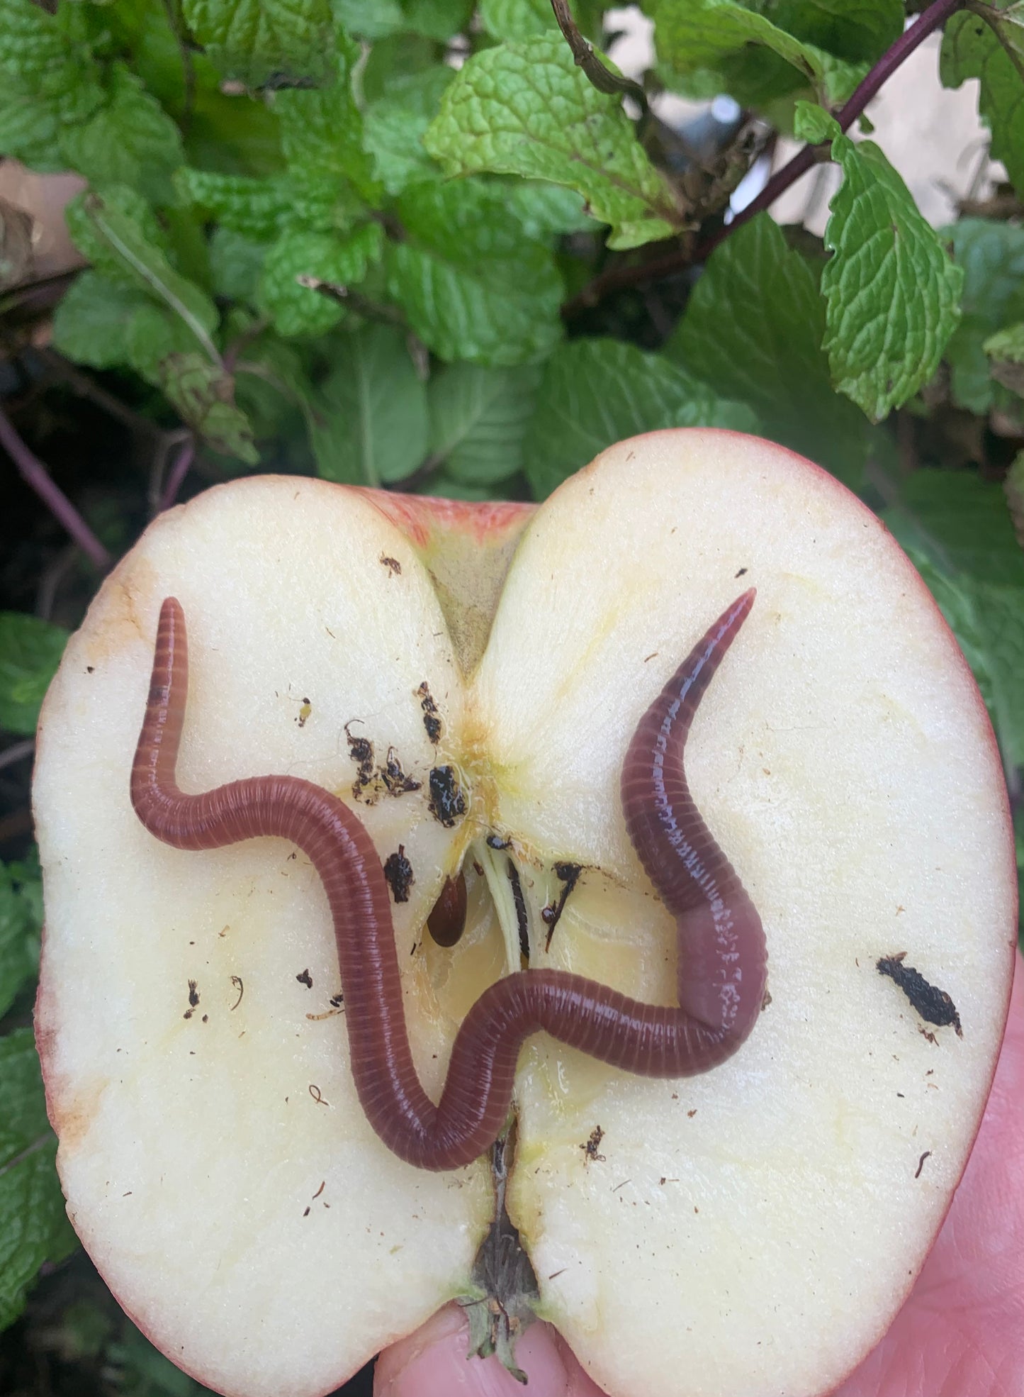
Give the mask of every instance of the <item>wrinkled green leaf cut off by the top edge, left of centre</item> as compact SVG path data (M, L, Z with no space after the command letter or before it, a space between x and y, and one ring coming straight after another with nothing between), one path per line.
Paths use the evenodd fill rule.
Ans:
M329 0L181 0L181 13L225 75L247 87L328 75L335 47Z

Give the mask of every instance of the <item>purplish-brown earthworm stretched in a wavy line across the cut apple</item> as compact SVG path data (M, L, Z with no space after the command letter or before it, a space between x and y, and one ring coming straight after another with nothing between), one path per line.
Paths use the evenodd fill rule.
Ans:
M273 835L306 852L333 919L356 1091L372 1129L402 1160L455 1169L481 1154L505 1123L519 1049L539 1030L652 1077L706 1071L749 1034L765 988L765 937L693 806L682 749L752 602L751 591L698 643L640 719L622 768L626 828L677 918L679 1007L645 1004L565 971L506 975L483 992L459 1028L437 1105L413 1063L388 884L357 816L301 777L248 777L201 795L179 788L188 655L181 606L174 598L163 602L131 803L151 834L179 849Z

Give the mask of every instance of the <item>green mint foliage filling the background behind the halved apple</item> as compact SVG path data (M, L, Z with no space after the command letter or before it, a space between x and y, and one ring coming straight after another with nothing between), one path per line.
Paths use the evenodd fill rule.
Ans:
M989 705L1024 866L1024 6L642 8L656 61L633 82L594 0L0 0L0 154L82 176L67 228L86 264L42 309L40 288L6 292L6 356L36 363L24 326L42 324L50 372L156 443L138 500L103 514L42 464L18 394L0 408L0 443L84 560L66 619L183 488L276 469L540 499L631 433L759 433L883 513L928 581ZM1009 183L935 229L864 110L939 32L942 81L979 80ZM693 149L656 115L665 89L734 96L735 140ZM804 144L727 217L777 134ZM774 224L773 200L829 161L825 237ZM15 606L0 774L17 810L67 631ZM0 1326L73 1246L29 1028L38 868L17 842Z

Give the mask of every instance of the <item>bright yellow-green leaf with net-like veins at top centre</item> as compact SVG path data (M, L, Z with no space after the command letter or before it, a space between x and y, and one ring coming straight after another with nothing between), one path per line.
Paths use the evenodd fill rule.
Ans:
M492 170L575 189L611 225L611 247L668 237L684 221L621 101L592 87L559 34L469 59L424 145L448 175Z

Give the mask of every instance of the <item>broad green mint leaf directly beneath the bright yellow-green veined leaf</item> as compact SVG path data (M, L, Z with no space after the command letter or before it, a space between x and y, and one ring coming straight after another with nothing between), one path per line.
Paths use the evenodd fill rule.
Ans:
M414 184L396 212L407 240L388 243L388 292L434 353L509 367L551 351L562 282L551 251L509 224L501 190Z

